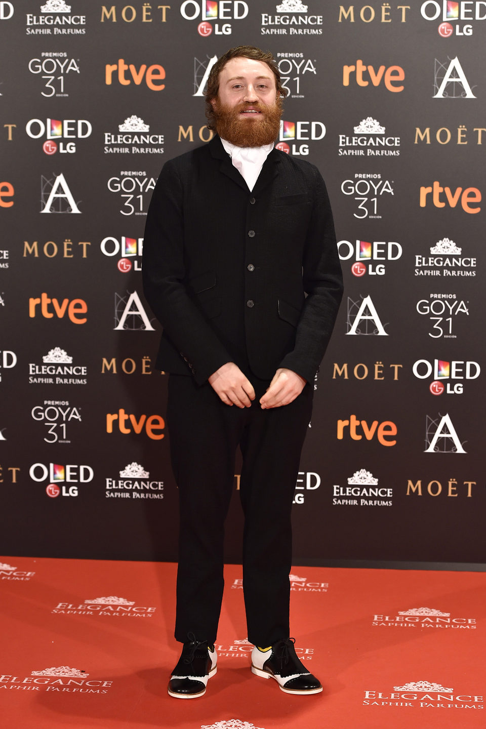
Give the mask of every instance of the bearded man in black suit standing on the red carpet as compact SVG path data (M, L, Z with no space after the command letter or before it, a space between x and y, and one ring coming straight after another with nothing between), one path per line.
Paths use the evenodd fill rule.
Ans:
M342 278L321 175L273 148L284 95L270 53L219 58L205 94L218 136L165 164L147 216L144 290L164 328L180 499L176 698L203 695L216 673L238 445L251 670L286 693L322 691L289 638L291 504Z

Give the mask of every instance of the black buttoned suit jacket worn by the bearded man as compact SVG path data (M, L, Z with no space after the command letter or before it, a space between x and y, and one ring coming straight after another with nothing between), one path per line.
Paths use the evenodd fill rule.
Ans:
M273 149L253 191L215 137L165 163L144 234L156 366L201 384L225 362L313 381L342 295L332 212L314 165Z

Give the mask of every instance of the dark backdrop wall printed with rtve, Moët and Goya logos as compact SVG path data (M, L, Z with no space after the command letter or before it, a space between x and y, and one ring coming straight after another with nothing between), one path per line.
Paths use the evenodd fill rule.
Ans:
M254 44L345 276L295 561L484 561L486 1L168 2L0 1L2 551L176 559L144 223L165 160L211 139L211 66Z

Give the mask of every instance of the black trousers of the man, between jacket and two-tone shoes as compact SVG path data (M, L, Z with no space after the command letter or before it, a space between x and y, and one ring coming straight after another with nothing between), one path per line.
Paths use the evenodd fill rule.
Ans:
M290 405L262 410L259 398L269 382L251 381L256 397L251 408L240 409L224 405L208 383L169 378L167 422L181 520L175 631L180 642L189 632L197 640L216 641L224 519L238 445L248 640L266 647L289 637L291 506L313 386L307 384Z

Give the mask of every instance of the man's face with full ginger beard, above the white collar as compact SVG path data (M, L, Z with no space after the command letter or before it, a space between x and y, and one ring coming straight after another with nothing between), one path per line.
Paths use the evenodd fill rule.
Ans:
M252 58L232 58L219 74L213 99L216 131L238 147L261 147L275 141L281 117L275 76Z

